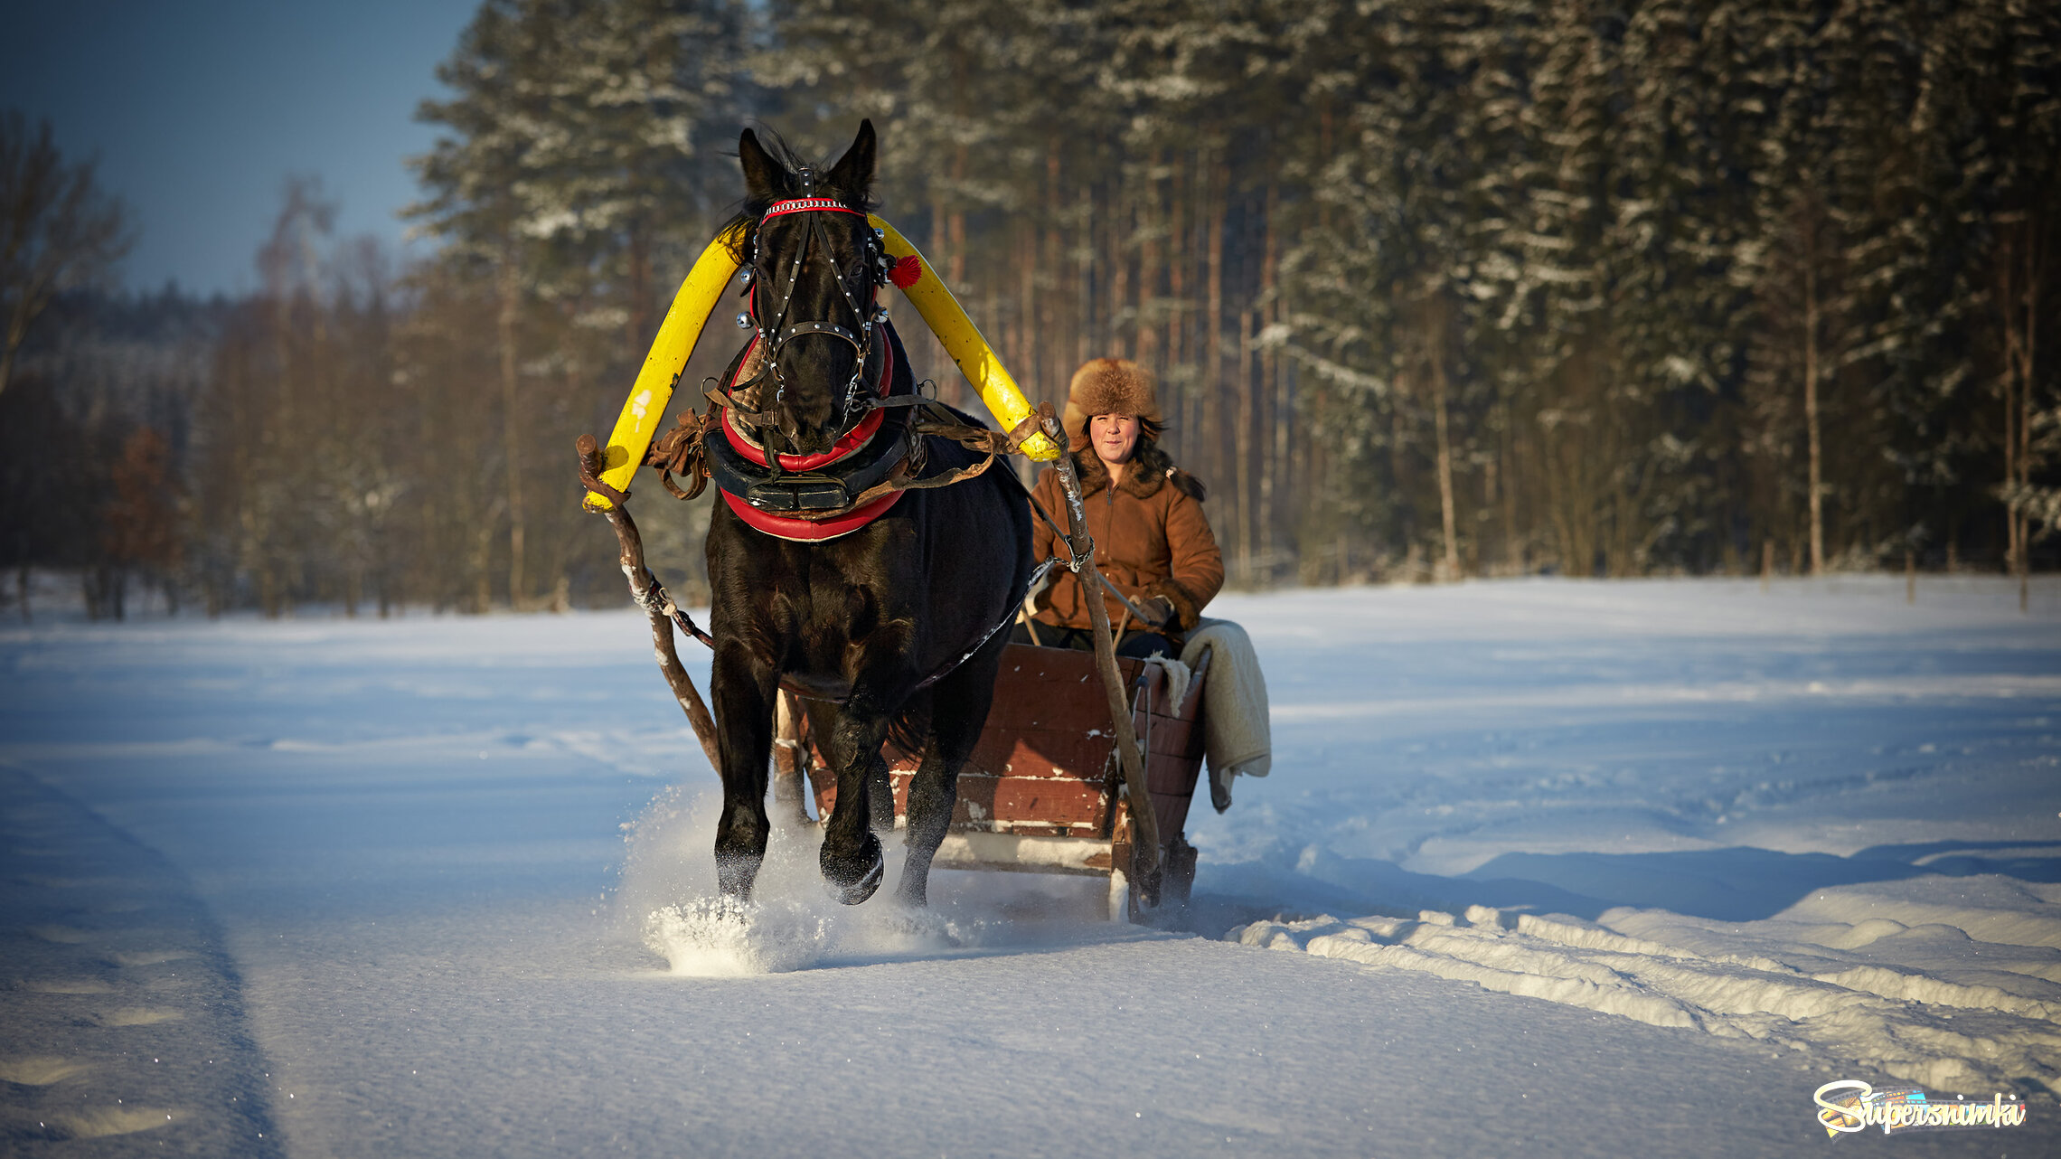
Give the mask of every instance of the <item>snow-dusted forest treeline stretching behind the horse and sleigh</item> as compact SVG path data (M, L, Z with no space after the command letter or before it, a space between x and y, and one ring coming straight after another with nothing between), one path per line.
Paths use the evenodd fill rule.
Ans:
M431 258L295 181L247 299L45 313L10 565L105 610L620 602L571 441L734 212L740 128L831 159L861 115L1033 398L1156 371L1235 584L2057 555L2049 4L488 0L439 80ZM639 497L692 588L707 499Z

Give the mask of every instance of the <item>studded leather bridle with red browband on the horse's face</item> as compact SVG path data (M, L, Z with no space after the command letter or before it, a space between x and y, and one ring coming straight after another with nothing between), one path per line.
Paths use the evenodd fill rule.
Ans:
M851 349L857 357L853 359L851 365L851 382L845 384L845 400L843 400L843 410L839 415L839 427L843 427L853 423L859 415L866 412L864 398L868 396L868 392L864 390L861 384L866 382L866 367L868 363L872 363L874 349L878 342L880 334L878 324L886 322L886 307L878 303L876 295L880 287L886 285L888 280L886 278L888 256L886 256L886 245L880 239L880 231L868 227L864 231L866 254L861 256L857 268L851 270L851 276L847 278L847 272L841 270L837 264L837 252L831 245L831 235L822 229L822 214L849 212L859 219L864 219L866 214L835 198L814 196L816 173L806 165L800 171L800 181L802 181L802 196L773 202L758 217L758 225L752 229L752 241L750 241L752 252L744 274L752 295L750 313L740 316L738 324L754 328L758 332L758 346L767 355L765 373L773 377L775 404L785 402L787 398L787 379L779 369L781 351L787 346L787 342L793 342L804 334L831 334L835 338L851 342ZM796 247L793 264L787 268L785 289L775 289L779 270L767 268L763 237L769 221L789 214L804 214L808 223L808 235L802 237L802 245ZM837 322L829 320L789 322L787 311L793 305L793 291L802 283L802 264L808 260L808 252L812 245L822 247L822 256L831 264L831 276L837 280L837 291L843 295L845 307L851 311L855 330L839 326ZM857 293L853 293L853 283L857 283ZM779 305L773 307L771 316L761 309L758 303L761 285L765 285L769 293L779 293ZM859 305L861 297L866 299L866 305Z

